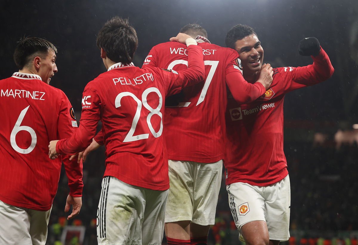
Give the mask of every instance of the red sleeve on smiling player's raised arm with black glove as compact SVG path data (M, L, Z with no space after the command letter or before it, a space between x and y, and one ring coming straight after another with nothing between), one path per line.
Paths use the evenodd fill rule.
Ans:
M334 69L328 55L321 47L317 56L311 56L313 64L303 67L282 67L280 72L288 76L286 91L321 83L332 76Z

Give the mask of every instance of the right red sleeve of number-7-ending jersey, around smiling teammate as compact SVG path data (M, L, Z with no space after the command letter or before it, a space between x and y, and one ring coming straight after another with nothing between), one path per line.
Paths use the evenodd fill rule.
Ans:
M229 52L226 66L225 80L233 98L239 104L248 104L265 93L266 89L261 83L248 83L242 75L240 58L236 51Z

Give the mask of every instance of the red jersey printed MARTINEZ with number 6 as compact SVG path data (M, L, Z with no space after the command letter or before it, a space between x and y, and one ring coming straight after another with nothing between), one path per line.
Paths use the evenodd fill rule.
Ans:
M57 192L62 160L70 194L82 195L82 164L51 160L51 140L68 138L77 122L66 95L40 76L15 72L0 80L0 200L47 211Z

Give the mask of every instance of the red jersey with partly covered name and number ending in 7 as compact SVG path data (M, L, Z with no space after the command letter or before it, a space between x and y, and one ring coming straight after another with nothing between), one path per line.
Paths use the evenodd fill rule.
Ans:
M224 158L226 83L239 102L253 101L265 93L260 83L242 76L238 53L208 42L202 48L205 80L183 89L178 106L166 107L165 140L171 160L217 162ZM188 64L184 44L166 42L154 46L142 67L182 70Z

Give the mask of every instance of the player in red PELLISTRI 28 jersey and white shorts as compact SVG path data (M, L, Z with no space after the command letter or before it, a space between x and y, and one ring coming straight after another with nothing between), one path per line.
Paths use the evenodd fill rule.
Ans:
M50 157L82 151L102 121L106 170L97 213L99 244L161 244L163 239L169 188L164 99L204 78L203 53L195 40L183 33L171 40L187 44L188 69L140 69L132 63L135 29L119 17L109 20L97 37L108 71L84 89L76 134L57 145L50 142Z

